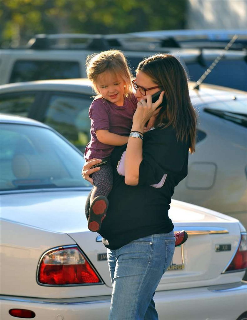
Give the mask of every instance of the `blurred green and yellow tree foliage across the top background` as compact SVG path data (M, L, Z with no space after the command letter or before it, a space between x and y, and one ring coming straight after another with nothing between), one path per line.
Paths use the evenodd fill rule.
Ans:
M187 0L1 0L0 42L37 33L111 34L182 29Z

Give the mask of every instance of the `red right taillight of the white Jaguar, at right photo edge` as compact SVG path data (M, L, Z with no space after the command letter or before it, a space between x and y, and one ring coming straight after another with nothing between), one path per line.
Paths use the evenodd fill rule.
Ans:
M247 267L247 234L241 234L240 244L225 272L240 271Z

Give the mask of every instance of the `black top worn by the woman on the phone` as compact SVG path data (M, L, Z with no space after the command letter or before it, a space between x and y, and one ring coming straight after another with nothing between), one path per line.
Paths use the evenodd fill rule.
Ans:
M178 141L170 126L144 134L143 160L139 166L139 183L128 186L116 171L126 145L112 153L113 188L108 196L107 216L100 235L103 244L112 250L151 234L168 233L173 223L168 217L175 186L186 177L189 141ZM167 173L162 188L151 187Z

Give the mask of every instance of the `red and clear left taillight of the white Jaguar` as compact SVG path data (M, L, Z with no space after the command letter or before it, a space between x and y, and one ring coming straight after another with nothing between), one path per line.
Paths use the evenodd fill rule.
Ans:
M102 283L77 246L46 252L39 264L38 282L47 285Z

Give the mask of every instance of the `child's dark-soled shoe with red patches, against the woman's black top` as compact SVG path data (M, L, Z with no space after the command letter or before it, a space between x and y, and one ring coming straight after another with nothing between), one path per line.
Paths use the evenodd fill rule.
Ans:
M89 208L88 228L90 231L100 230L101 222L106 216L108 208L108 199L105 196L97 196Z

